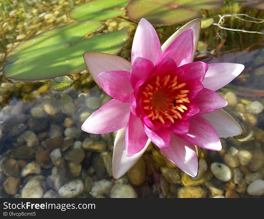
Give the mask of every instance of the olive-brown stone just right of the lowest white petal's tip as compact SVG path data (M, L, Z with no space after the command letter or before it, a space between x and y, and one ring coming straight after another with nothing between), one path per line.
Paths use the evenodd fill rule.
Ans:
M146 163L142 157L128 170L128 179L134 185L141 185L145 182Z

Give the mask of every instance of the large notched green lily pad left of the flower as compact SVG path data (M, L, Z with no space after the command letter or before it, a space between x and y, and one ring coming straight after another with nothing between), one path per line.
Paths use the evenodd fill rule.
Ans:
M127 29L84 38L98 28L98 21L73 22L37 35L7 55L4 76L30 81L80 72L84 52L116 54L126 44Z

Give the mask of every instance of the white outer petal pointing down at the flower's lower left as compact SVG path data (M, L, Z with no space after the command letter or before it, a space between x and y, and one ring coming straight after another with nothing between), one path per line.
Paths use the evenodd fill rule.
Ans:
M151 140L148 139L145 147L137 154L128 157L126 156L126 146L125 146L125 134L126 128L119 129L116 134L116 139L114 143L113 151L113 177L115 179L120 178L140 159L148 148Z

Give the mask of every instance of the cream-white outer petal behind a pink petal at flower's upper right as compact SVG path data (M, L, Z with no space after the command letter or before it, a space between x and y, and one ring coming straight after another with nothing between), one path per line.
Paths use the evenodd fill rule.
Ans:
M192 29L193 30L193 55L190 60L190 62L193 61L198 41L200 38L200 31L201 31L201 20L200 19L194 19L182 26L179 30L177 30L173 35L171 35L165 43L161 46L162 53L167 49L167 47L185 30Z

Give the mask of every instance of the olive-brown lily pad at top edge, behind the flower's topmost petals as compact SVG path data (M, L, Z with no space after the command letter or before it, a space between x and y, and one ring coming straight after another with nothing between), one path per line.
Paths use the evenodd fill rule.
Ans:
M190 8L219 9L222 4L222 0L132 0L126 9L132 20L146 18L152 24L172 25L202 17Z

